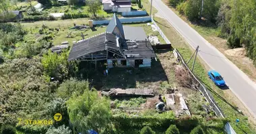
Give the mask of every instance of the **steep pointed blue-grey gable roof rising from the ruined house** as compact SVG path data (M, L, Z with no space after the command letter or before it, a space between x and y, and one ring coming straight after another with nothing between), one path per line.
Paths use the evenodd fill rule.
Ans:
M110 20L108 26L106 27L106 32L113 33L115 27L117 27L122 36L125 37L125 34L123 32L123 25L121 21L118 19L117 15L114 13L113 18Z

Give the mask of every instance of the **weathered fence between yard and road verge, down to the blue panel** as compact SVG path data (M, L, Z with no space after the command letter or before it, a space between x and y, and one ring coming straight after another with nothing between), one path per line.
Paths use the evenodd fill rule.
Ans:
M183 63L183 65L187 68L187 70L189 70L190 74L193 76L194 80L196 82L198 82L198 89L199 91L203 94L203 96L205 97L205 99L207 100L207 102L210 104L210 106L212 107L212 109L214 109L214 112L216 113L216 115L218 115L218 117L222 117L224 118L224 113L222 112L222 110L220 109L220 107L218 107L216 101L214 100L214 97L212 96L212 94L210 93L210 91L205 87L205 85L197 78L197 76L195 76L195 74L193 74L193 72L189 69L189 67L187 66L187 63L185 62L185 60L183 59L183 56L181 56L181 54L178 52L178 50L174 49L174 53L175 55L179 58L179 60L181 60L181 62ZM230 125L230 123L226 123L225 127L224 127L226 133L228 134L236 134L236 132L234 131L234 129L232 128L232 126Z

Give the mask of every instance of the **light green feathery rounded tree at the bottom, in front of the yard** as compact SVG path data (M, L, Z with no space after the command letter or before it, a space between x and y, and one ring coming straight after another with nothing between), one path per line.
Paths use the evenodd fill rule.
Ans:
M96 90L89 88L84 94L75 94L67 101L69 119L80 133L94 129L102 133L110 125L110 101L98 96Z

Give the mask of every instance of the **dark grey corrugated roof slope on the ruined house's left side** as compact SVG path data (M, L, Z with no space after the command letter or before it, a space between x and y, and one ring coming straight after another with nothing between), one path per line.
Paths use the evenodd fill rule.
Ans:
M115 35L104 33L92 38L88 38L77 44L73 44L69 53L69 58L67 60L75 60L86 54L92 54L94 52L106 50L106 46L115 49L115 46L117 46L116 39L117 38Z

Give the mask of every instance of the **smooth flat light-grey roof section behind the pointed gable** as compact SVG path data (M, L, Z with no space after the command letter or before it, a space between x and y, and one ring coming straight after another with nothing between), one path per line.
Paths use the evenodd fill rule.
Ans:
M148 40L143 27L130 27L123 25L123 29L125 31L125 40Z

